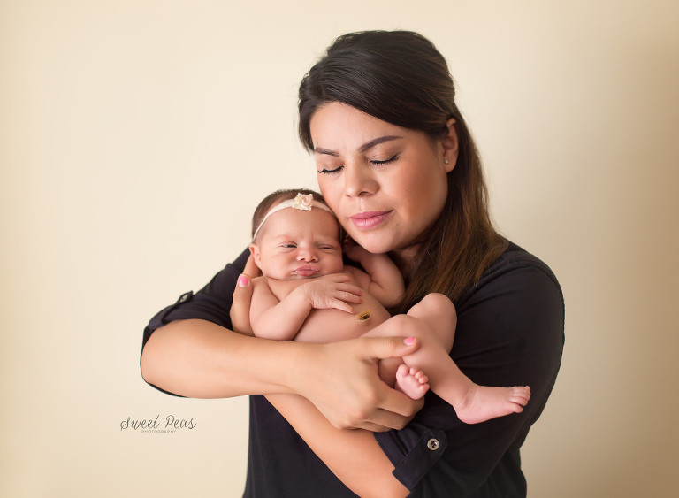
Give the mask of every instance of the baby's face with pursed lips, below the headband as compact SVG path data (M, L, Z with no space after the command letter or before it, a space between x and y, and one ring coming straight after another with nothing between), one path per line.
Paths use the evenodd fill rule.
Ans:
M312 279L344 267L337 219L319 209L273 213L250 249L262 274L272 279Z

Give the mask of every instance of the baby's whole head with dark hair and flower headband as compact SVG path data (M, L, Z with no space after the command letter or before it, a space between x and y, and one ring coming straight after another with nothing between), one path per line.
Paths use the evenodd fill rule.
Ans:
M317 192L278 190L252 218L250 252L265 277L294 280L341 272L340 224Z

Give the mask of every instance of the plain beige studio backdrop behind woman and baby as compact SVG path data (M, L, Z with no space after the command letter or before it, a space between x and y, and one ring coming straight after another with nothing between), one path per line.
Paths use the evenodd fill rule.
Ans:
M336 35L375 28L438 45L500 230L561 280L530 496L672 494L675 2L242 4L0 1L0 495L242 493L247 400L148 387L141 331L240 253L264 194L315 186L297 85Z

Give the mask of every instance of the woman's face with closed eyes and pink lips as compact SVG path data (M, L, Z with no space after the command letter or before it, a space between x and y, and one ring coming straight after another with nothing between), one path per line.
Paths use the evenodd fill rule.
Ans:
M318 186L347 233L372 253L414 256L446 203L456 136L432 142L336 102L314 113L310 130Z

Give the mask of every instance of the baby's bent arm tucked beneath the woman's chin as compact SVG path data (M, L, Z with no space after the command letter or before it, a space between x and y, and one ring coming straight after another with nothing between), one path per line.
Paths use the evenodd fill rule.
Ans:
M385 307L401 303L405 294L403 276L396 264L385 254L372 254L361 246L355 245L345 249L349 259L360 263L370 277L368 291Z

